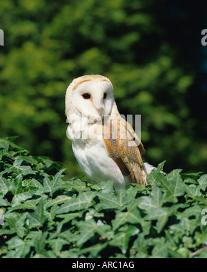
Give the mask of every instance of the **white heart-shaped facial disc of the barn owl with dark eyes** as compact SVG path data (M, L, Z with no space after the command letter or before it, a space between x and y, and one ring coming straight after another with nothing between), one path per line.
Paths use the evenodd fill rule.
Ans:
M110 115L114 101L110 81L87 80L72 90L72 105L77 110L92 119Z

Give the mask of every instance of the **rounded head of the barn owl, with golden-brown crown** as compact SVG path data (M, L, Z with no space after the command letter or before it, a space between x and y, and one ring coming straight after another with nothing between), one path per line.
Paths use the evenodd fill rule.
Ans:
M66 116L77 110L92 119L110 115L115 99L110 80L101 75L74 79L66 92Z

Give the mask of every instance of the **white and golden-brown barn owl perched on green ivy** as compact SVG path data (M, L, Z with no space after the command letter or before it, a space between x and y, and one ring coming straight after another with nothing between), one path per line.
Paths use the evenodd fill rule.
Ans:
M74 79L66 92L67 136L88 178L113 180L115 190L146 184L152 166L144 164L144 146L121 117L110 80L101 75Z

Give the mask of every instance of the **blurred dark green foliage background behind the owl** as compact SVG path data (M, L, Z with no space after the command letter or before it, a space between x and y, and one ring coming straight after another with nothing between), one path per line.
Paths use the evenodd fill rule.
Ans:
M206 171L207 1L0 3L0 137L81 172L66 137L72 79L112 81L119 112L141 114L144 161Z

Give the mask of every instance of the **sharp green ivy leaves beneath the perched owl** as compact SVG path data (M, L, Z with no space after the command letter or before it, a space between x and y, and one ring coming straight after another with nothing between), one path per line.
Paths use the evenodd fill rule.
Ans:
M148 186L115 192L112 181L68 180L13 141L0 139L2 258L207 258L197 252L207 246L204 173L164 175L162 163Z

